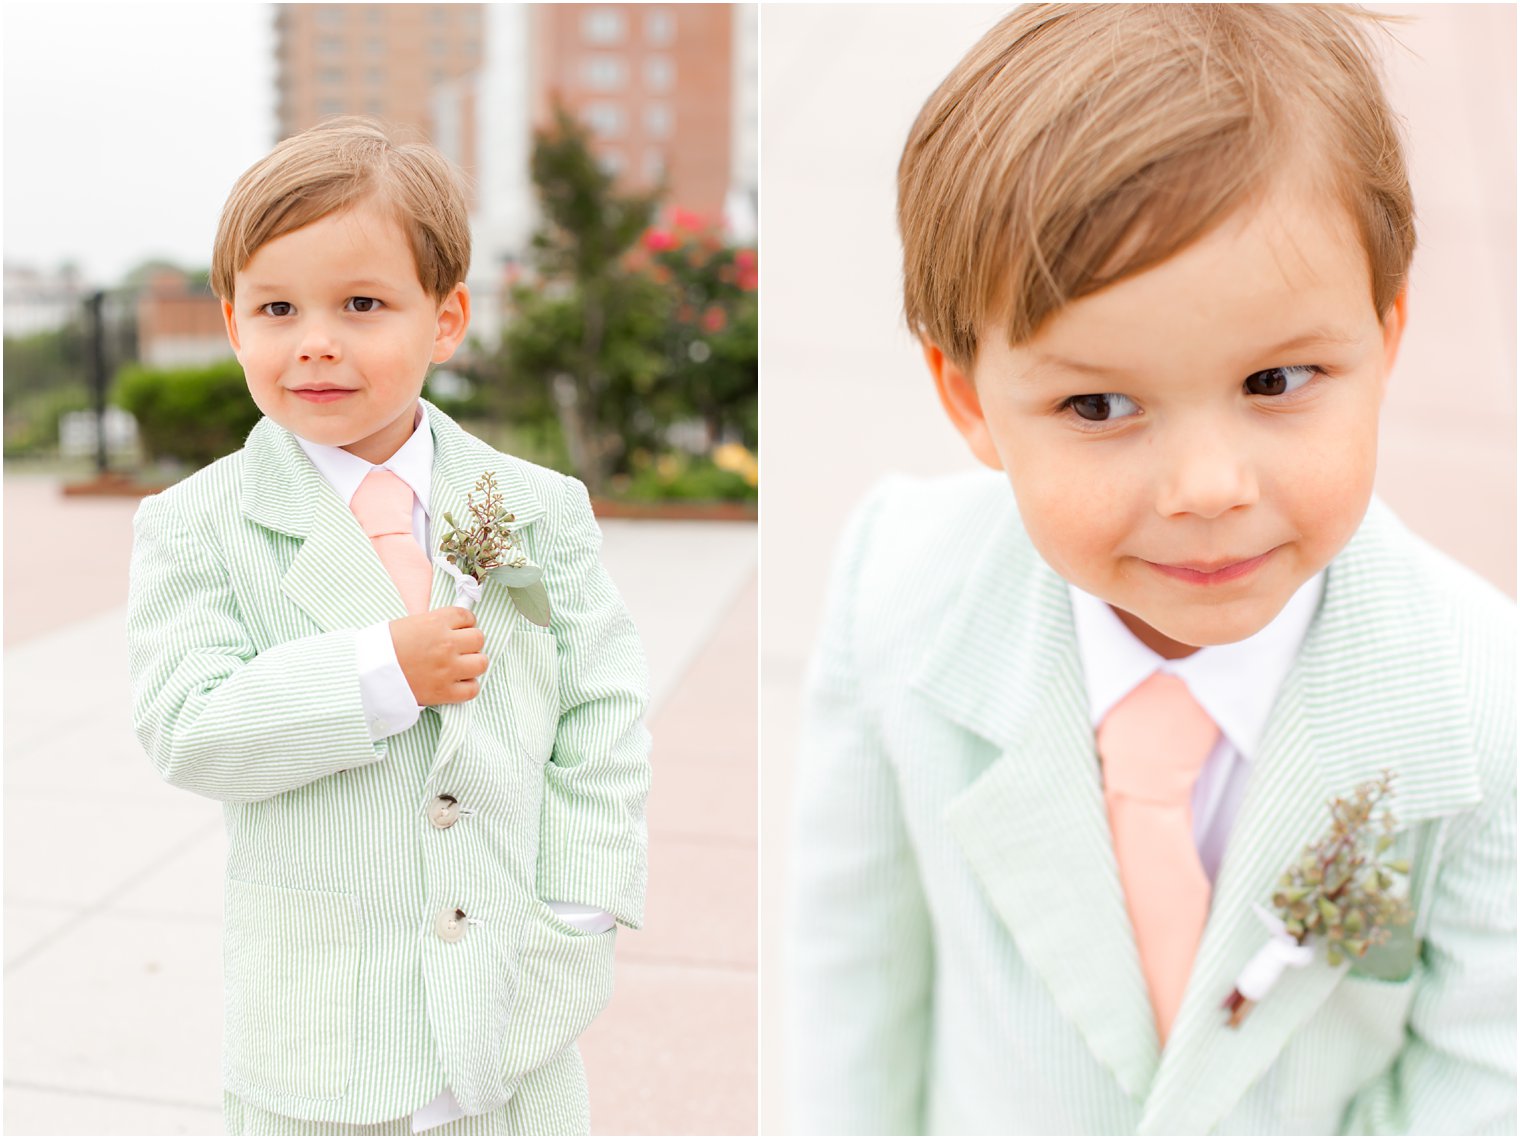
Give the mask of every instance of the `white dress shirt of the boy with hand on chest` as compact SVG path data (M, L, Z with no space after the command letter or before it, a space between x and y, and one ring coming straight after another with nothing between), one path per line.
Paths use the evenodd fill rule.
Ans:
M295 439L312 459L318 474L337 491L344 505L353 503L359 484L372 470L388 470L410 487L415 496L412 499L412 537L432 560L432 520L427 516L426 503L432 500L433 490L433 432L427 427L427 412L423 411L421 403L416 405L416 418L412 420L412 435L397 449L395 455L378 465L360 459L342 447L312 443L299 435ZM412 686L407 684L406 674L401 672L401 665L395 658L391 622L380 620L359 630L357 648L359 693L365 707L365 722L369 725L369 738L380 741L406 731L423 715L423 709L412 695ZM561 920L587 934L600 934L616 925L611 914L596 906L549 902L549 908ZM441 1127L462 1119L464 1115L454 1093L445 1086L435 1099L412 1113L412 1133Z

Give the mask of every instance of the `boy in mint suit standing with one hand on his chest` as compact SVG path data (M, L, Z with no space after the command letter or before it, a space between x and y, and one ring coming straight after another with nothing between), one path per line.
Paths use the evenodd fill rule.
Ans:
M362 120L275 148L211 269L266 418L137 516L138 738L226 803L231 1134L588 1130L575 1042L643 909L648 681L585 488L420 400L468 263L436 151ZM485 473L547 628L430 564Z

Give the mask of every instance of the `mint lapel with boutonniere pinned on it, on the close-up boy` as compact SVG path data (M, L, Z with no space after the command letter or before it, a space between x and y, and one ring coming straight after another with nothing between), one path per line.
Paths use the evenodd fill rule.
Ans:
M1319 613L1252 763L1140 1134L1213 1130L1347 972L1332 969L1321 949L1312 966L1286 970L1240 1028L1228 1028L1219 1007L1266 940L1251 903L1271 908L1277 879L1328 826L1332 797L1388 768L1401 832L1480 798L1458 649L1429 578L1409 569L1414 550L1400 531L1374 502L1330 564ZM1414 879L1424 870L1414 867Z

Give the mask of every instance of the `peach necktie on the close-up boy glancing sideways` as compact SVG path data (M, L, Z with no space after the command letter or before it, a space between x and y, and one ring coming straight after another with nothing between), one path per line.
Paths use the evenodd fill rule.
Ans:
M1163 1045L1208 918L1192 794L1218 738L1187 684L1164 672L1137 684L1097 727L1119 880Z

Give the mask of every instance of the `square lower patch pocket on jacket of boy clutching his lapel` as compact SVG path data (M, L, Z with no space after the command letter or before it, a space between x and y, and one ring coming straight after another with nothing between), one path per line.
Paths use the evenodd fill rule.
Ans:
M236 1081L307 1099L348 1090L357 923L350 894L228 879L226 1068Z

